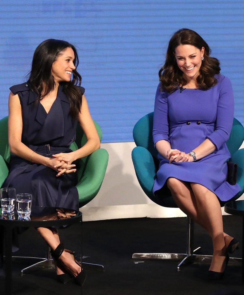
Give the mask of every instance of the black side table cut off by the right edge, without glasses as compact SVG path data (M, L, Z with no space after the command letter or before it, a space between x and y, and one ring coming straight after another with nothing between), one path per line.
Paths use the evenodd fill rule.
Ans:
M225 204L225 212L232 215L242 216L242 242L244 241L244 200ZM244 283L244 246L242 245L242 283Z

